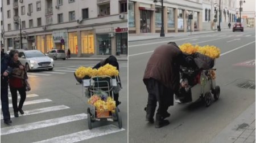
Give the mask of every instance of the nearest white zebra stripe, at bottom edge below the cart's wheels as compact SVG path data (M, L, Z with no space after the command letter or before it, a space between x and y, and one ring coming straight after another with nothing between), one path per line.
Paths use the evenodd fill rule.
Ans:
M46 143L46 142L72 143L72 142L79 142L79 141L88 140L88 139L94 138L94 137L105 136L105 135L109 135L111 133L121 132L121 131L124 131L124 130L125 129L123 129L123 128L119 129L115 125L105 125L105 126L102 126L102 127L93 128L91 130L88 129L88 130L85 130L85 131L71 133L69 135L64 135L64 136L59 136L59 137L53 137L53 138L49 138L47 140L38 141L38 142L34 142L34 143Z

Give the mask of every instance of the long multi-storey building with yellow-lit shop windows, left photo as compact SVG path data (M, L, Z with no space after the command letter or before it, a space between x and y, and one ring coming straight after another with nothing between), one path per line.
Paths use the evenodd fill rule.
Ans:
M73 57L127 55L126 0L3 0L2 4L5 50L70 49Z

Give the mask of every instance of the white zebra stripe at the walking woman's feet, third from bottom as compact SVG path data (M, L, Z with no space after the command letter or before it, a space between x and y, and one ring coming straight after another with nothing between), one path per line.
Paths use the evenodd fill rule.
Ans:
M63 109L69 109L69 107L65 105L59 105L59 106L46 107L41 109L26 110L24 111L24 114L20 114L19 116L34 115L34 114L39 114L43 112L51 112L51 111L57 111L57 110L63 110ZM14 115L11 115L11 118L14 118ZM3 115L1 115L1 119L3 119Z

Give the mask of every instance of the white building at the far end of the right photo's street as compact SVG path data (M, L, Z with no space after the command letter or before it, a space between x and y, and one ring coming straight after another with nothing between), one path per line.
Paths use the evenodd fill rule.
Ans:
M203 0L203 29L216 29L221 22L221 28L228 28L228 23L236 23L236 0ZM221 8L221 19L219 17ZM217 11L217 21L214 23L214 15Z

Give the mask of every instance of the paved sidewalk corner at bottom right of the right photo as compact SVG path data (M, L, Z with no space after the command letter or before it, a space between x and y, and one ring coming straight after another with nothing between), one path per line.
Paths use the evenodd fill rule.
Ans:
M255 142L255 102L210 141L210 143L220 142Z

